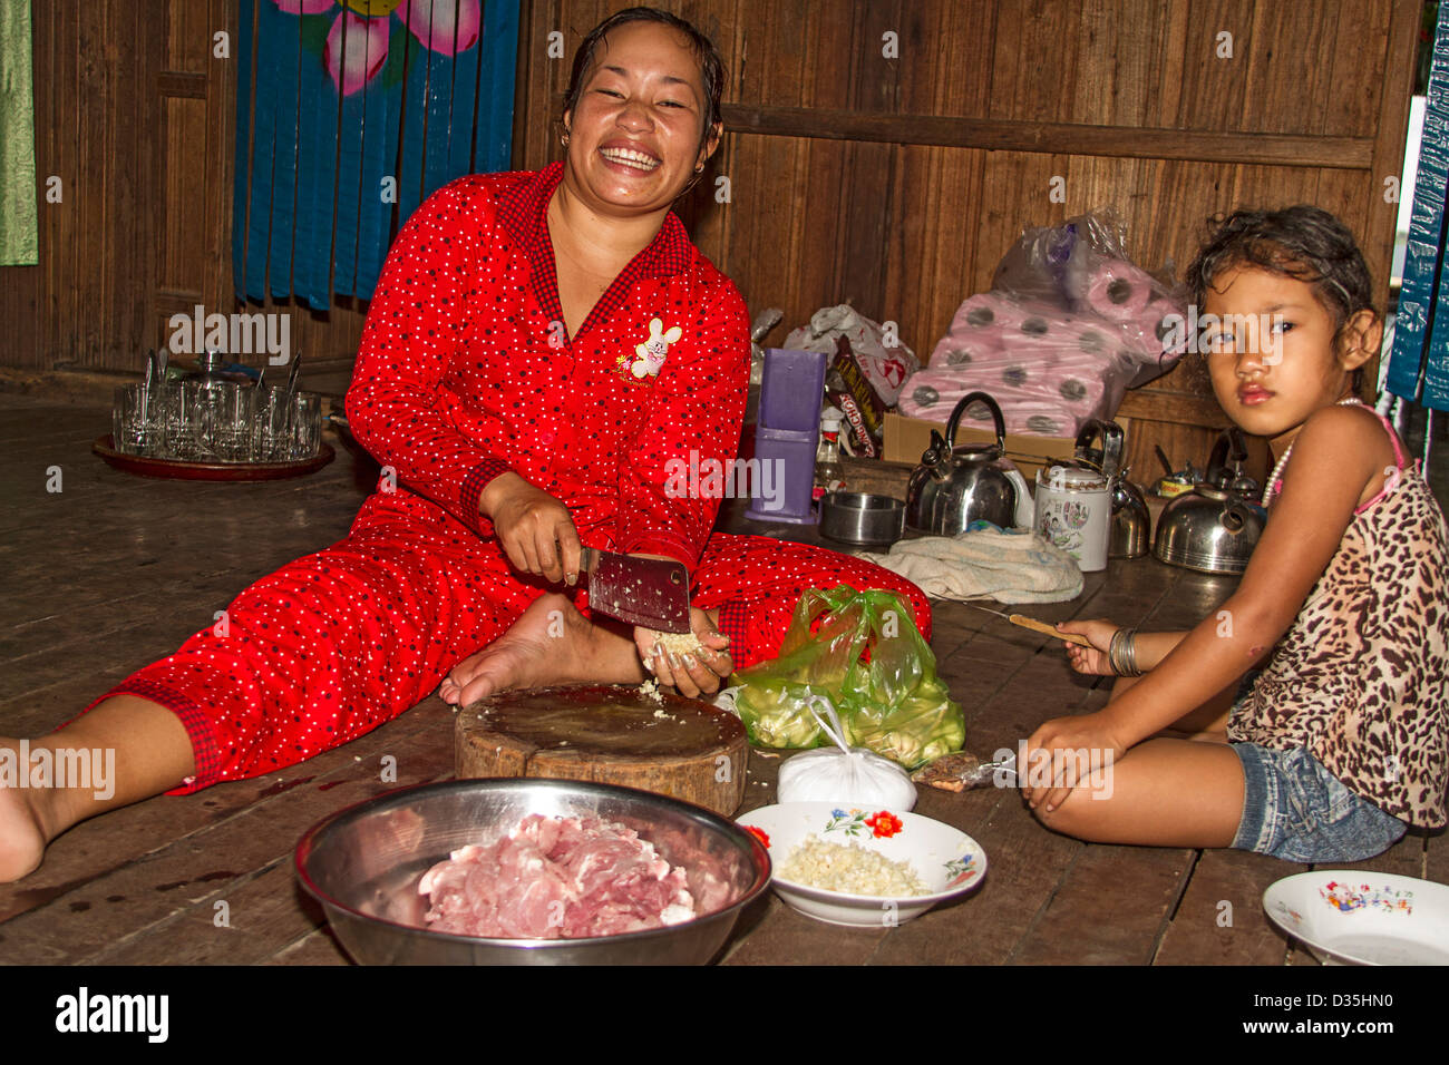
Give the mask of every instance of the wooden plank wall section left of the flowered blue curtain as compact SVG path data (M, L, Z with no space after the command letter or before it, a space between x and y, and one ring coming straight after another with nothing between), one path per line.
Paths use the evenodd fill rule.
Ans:
M268 1L270 0L264 0ZM0 267L0 367L139 372L171 314L227 313L241 0L32 9L41 265ZM213 54L227 32L229 57ZM45 200L61 178L61 203ZM248 310L272 310L252 306ZM365 307L284 304L291 345L351 362ZM254 365L261 358L241 359Z

